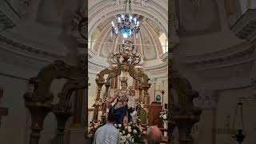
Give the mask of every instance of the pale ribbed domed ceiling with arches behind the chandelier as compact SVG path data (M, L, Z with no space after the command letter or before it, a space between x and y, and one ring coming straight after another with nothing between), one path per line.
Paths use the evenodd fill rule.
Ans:
M118 0L89 1L89 48L102 58L108 58L111 52L118 50L122 43L122 35L111 36L111 22L117 14L123 13L123 6L118 5ZM167 1L141 0L132 1L133 14L142 18L138 38L130 38L138 47L138 53L142 54L143 61L159 59L166 46L167 35Z

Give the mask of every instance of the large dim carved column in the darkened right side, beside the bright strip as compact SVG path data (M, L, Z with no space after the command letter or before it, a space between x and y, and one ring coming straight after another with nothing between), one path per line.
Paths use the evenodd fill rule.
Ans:
M178 94L178 103L171 102L170 118L178 127L180 144L191 144L193 138L190 131L194 123L199 122L202 113L202 109L194 106L193 102L194 98L198 98L198 92L192 90L190 82L179 75L178 71L169 70L169 74L170 88L176 90Z

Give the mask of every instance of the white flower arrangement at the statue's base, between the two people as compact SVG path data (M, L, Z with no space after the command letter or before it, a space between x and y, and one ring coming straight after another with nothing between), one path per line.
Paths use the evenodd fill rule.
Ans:
M136 125L132 122L128 123L128 126L125 127L122 126L122 124L114 124L114 126L119 130L121 135L120 144L128 144L129 142L143 142L146 130L142 126Z

